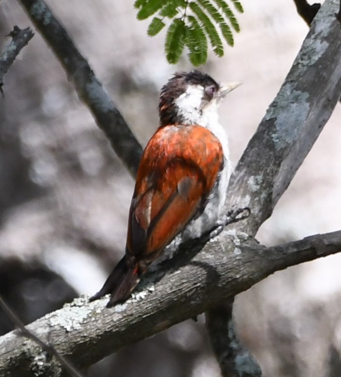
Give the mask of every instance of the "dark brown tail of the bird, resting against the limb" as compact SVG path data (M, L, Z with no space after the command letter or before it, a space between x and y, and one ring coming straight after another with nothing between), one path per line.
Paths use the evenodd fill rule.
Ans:
M89 300L97 300L110 293L112 296L107 306L113 306L116 302L127 299L139 280L137 271L128 268L124 256L113 269L101 290Z

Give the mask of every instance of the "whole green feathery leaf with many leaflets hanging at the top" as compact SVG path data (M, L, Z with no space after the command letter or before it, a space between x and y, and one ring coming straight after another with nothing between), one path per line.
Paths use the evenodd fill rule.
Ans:
M233 12L244 11L239 0L135 0L134 7L139 9L139 20L155 15L147 29L149 36L158 34L169 19L167 60L176 63L186 45L195 66L207 60L207 39L219 57L224 55L224 40L234 45L233 32L240 27Z

